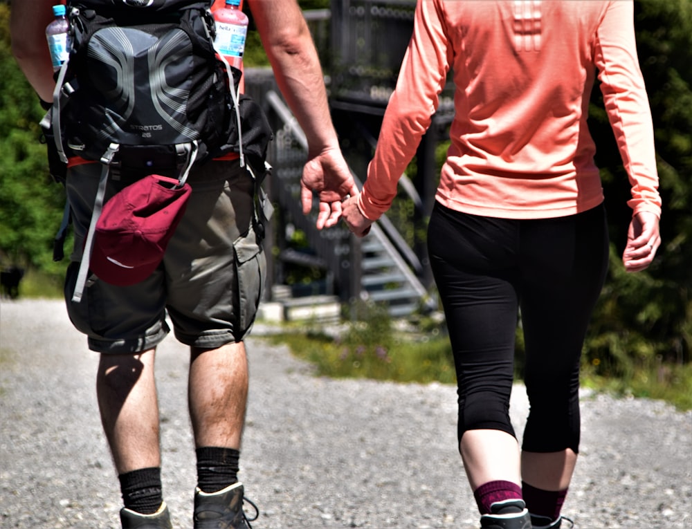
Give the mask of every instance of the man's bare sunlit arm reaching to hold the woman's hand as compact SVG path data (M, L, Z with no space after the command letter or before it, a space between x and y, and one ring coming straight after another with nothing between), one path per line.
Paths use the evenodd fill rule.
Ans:
M301 180L303 212L310 211L312 192L317 192L317 227L329 227L340 217L341 198L358 189L339 149L309 28L295 0L248 0L248 5L279 89L307 137L308 161Z

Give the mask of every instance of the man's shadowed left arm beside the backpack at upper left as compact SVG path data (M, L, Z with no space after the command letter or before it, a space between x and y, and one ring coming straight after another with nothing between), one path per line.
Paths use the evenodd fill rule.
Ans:
M26 79L44 101L53 100L53 66L46 26L53 21L54 0L15 0L10 12L12 54Z

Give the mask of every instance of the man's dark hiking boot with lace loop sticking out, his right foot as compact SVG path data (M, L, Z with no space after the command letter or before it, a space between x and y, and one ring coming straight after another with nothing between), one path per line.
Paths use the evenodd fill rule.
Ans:
M255 517L248 518L243 501L255 508ZM194 492L194 529L252 529L251 521L257 519L257 505L243 497L242 483L233 483L219 492Z

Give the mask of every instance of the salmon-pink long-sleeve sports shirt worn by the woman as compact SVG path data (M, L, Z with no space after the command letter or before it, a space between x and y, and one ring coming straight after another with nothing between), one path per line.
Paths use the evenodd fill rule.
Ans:
M603 201L586 119L595 75L632 185L661 214L650 107L631 0L419 0L358 208L390 207L453 70L455 114L436 199L506 219L576 214Z

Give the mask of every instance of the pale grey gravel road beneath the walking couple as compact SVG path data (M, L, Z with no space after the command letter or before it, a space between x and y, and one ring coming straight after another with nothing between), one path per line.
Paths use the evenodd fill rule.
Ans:
M476 527L456 445L455 388L318 378L257 324L241 458L255 529ZM97 355L61 301L0 304L0 527L118 528L120 492L95 402ZM190 528L187 349L157 358L163 487ZM511 414L527 414L518 385ZM578 529L692 528L692 413L583 393L581 458L563 514Z

